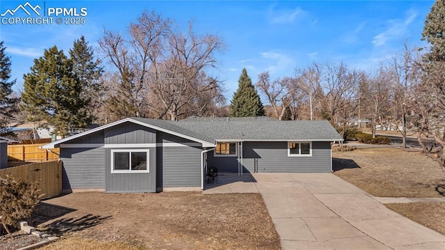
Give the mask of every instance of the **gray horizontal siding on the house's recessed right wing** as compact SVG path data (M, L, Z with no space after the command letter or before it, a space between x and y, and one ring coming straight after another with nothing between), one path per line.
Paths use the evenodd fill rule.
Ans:
M330 141L312 142L312 156L289 157L286 141L244 142L244 171L254 173L329 173L331 171ZM220 172L238 172L238 157L215 157L208 153L209 166ZM255 167L255 164L257 165Z

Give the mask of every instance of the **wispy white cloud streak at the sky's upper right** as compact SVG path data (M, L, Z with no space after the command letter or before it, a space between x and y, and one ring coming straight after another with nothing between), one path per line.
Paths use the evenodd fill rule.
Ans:
M417 17L417 13L408 11L405 19L390 19L387 21L387 28L374 36L372 43L374 46L386 45L389 40L403 38L408 31L408 26Z

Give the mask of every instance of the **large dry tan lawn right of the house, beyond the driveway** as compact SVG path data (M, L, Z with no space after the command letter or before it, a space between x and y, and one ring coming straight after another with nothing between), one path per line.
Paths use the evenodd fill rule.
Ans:
M381 197L442 197L439 164L419 152L398 148L332 151L334 174Z

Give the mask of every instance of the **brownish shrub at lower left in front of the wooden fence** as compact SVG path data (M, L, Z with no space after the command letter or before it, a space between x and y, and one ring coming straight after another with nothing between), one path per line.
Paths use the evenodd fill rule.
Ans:
M11 235L8 226L15 226L23 219L29 219L35 205L40 201L38 184L28 183L22 179L16 180L12 176L0 178L0 222L3 228Z

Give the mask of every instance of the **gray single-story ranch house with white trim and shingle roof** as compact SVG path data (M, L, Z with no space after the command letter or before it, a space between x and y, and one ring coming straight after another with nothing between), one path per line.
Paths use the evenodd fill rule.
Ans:
M334 141L342 138L325 120L125 118L42 148L60 148L66 192L159 192L203 189L211 166L240 175L330 172Z

